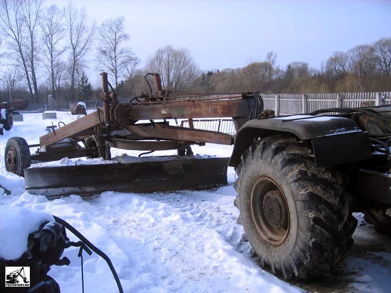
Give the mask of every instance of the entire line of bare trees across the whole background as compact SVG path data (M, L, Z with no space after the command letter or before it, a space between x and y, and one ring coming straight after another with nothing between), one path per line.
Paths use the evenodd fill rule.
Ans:
M97 25L84 8L69 2L63 9L45 7L42 0L0 0L0 101L28 99L44 103L99 99L86 71L106 71L119 98L128 99L150 89L148 72L160 73L172 92L322 93L388 91L391 89L391 38L334 52L312 68L292 62L281 68L270 51L260 62L242 68L201 71L188 48L159 48L143 68L127 45L125 18ZM93 56L88 63L87 57ZM153 86L151 77L150 83ZM153 88L152 88L153 89ZM154 89L153 89L154 91Z

